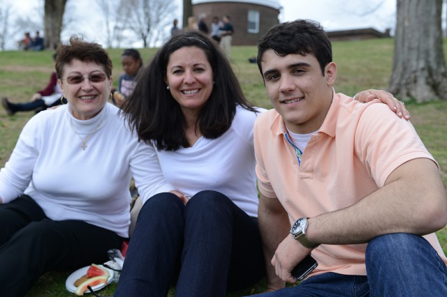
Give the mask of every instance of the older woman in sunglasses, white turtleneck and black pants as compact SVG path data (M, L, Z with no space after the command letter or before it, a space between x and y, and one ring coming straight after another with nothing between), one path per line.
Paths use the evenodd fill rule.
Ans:
M129 238L131 177L143 198L162 179L108 103L112 61L101 45L72 36L56 72L68 104L33 116L0 170L0 296L24 296L53 269L108 261Z

